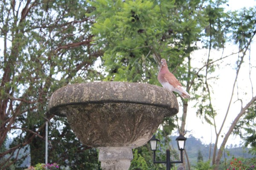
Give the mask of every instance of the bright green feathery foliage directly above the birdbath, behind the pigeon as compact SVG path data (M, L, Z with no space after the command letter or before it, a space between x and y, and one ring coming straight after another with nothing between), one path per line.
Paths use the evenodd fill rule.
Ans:
M96 16L94 42L105 51L102 58L108 73L105 80L159 85L156 73L161 57L170 59L169 67L175 68L178 75L183 74L184 67L177 65L196 49L190 45L201 33L200 24L206 24L203 11L197 8L200 3L91 1L96 8L90 13ZM177 14L181 11L182 15Z

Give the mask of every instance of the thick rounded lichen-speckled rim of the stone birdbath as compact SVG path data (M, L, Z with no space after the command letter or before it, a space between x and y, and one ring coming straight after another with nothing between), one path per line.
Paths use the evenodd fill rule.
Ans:
M166 116L178 112L176 96L169 90L146 83L85 82L56 90L49 100L49 112L66 116L58 108L67 105L134 103L166 108Z

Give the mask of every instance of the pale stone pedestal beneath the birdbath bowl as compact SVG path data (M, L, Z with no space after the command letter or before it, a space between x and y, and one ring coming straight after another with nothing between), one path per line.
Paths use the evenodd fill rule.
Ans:
M129 147L99 147L102 170L128 170L132 159Z

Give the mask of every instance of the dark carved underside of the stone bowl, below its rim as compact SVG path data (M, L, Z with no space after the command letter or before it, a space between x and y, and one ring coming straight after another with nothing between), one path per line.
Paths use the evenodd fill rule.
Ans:
M134 103L105 103L65 106L64 110L83 144L134 148L148 142L163 121L166 109Z

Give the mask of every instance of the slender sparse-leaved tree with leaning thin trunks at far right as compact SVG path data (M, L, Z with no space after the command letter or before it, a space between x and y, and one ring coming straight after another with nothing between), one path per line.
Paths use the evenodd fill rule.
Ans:
M215 129L215 135L216 135L216 140L215 140L215 147L213 150L213 157L212 157L212 164L215 164L215 170L218 170L218 165L220 164L220 159L221 156L223 154L223 150L224 147L227 143L227 139L230 137L231 133L233 132L236 124L238 123L239 119L241 118L241 116L245 115L247 112L247 109L253 105L253 103L256 100L256 96L253 96L253 90L252 90L252 96L247 98L242 96L242 92L244 91L243 89L239 89L239 82L238 82L238 77L239 77L239 71L241 70L241 65L244 64L244 60L246 57L250 58L250 55L247 55L247 51L250 50L250 44L253 40L253 37L256 33L255 31L255 25L253 24L252 20L253 20L253 16L255 16L255 10L253 8L250 9L243 9L243 11L235 11L233 13L230 13L227 17L227 20L225 20L225 23L227 23L225 25L226 28L229 28L227 30L227 33L232 33L233 37L232 37L232 42L235 42L238 45L238 52L236 54L238 54L238 59L236 60L236 77L234 79L234 83L233 86L231 87L232 92L231 92L231 96L230 96L230 100L229 100L229 104L227 105L227 111L224 114L224 118L221 122L221 127L219 128L219 130L217 130L217 124L216 124L216 115L217 115L217 111L213 108L212 104L211 104L211 95L212 95L212 91L209 90L209 86L208 86L208 79L205 79L205 84L206 84L206 88L207 89L207 96L209 100L202 100L202 103L204 103L203 105L200 105L200 110L198 110L198 113L201 115L205 116L205 119L207 120L207 122L209 122L210 124L213 125L214 129ZM241 20L243 21L243 25L241 26ZM227 39L228 40L228 39ZM210 52L209 52L210 53ZM226 57L232 56L228 55ZM234 55L233 55L234 56ZM220 59L223 59L224 57L221 57ZM217 59L218 60L218 59ZM215 61L217 61L215 60ZM215 62L213 61L213 62ZM208 62L207 62L208 65ZM250 64L249 64L249 68L251 68ZM206 71L206 75L207 75L207 71ZM250 74L249 74L250 77ZM255 86L253 83L251 83L251 88L253 89L253 86ZM237 91L235 92L235 89L237 88ZM217 151L217 144L218 144L218 140L220 137L220 134L222 133L224 124L226 122L227 116L230 113L230 107L232 107L232 102L234 102L234 96L236 95L237 100L236 101L240 101L241 102L241 110L237 113L236 116L234 116L233 122L231 122L230 128L229 130L225 133L225 135L223 136L223 140L221 142L221 146L219 148L219 150ZM247 104L244 105L243 103L247 101Z

